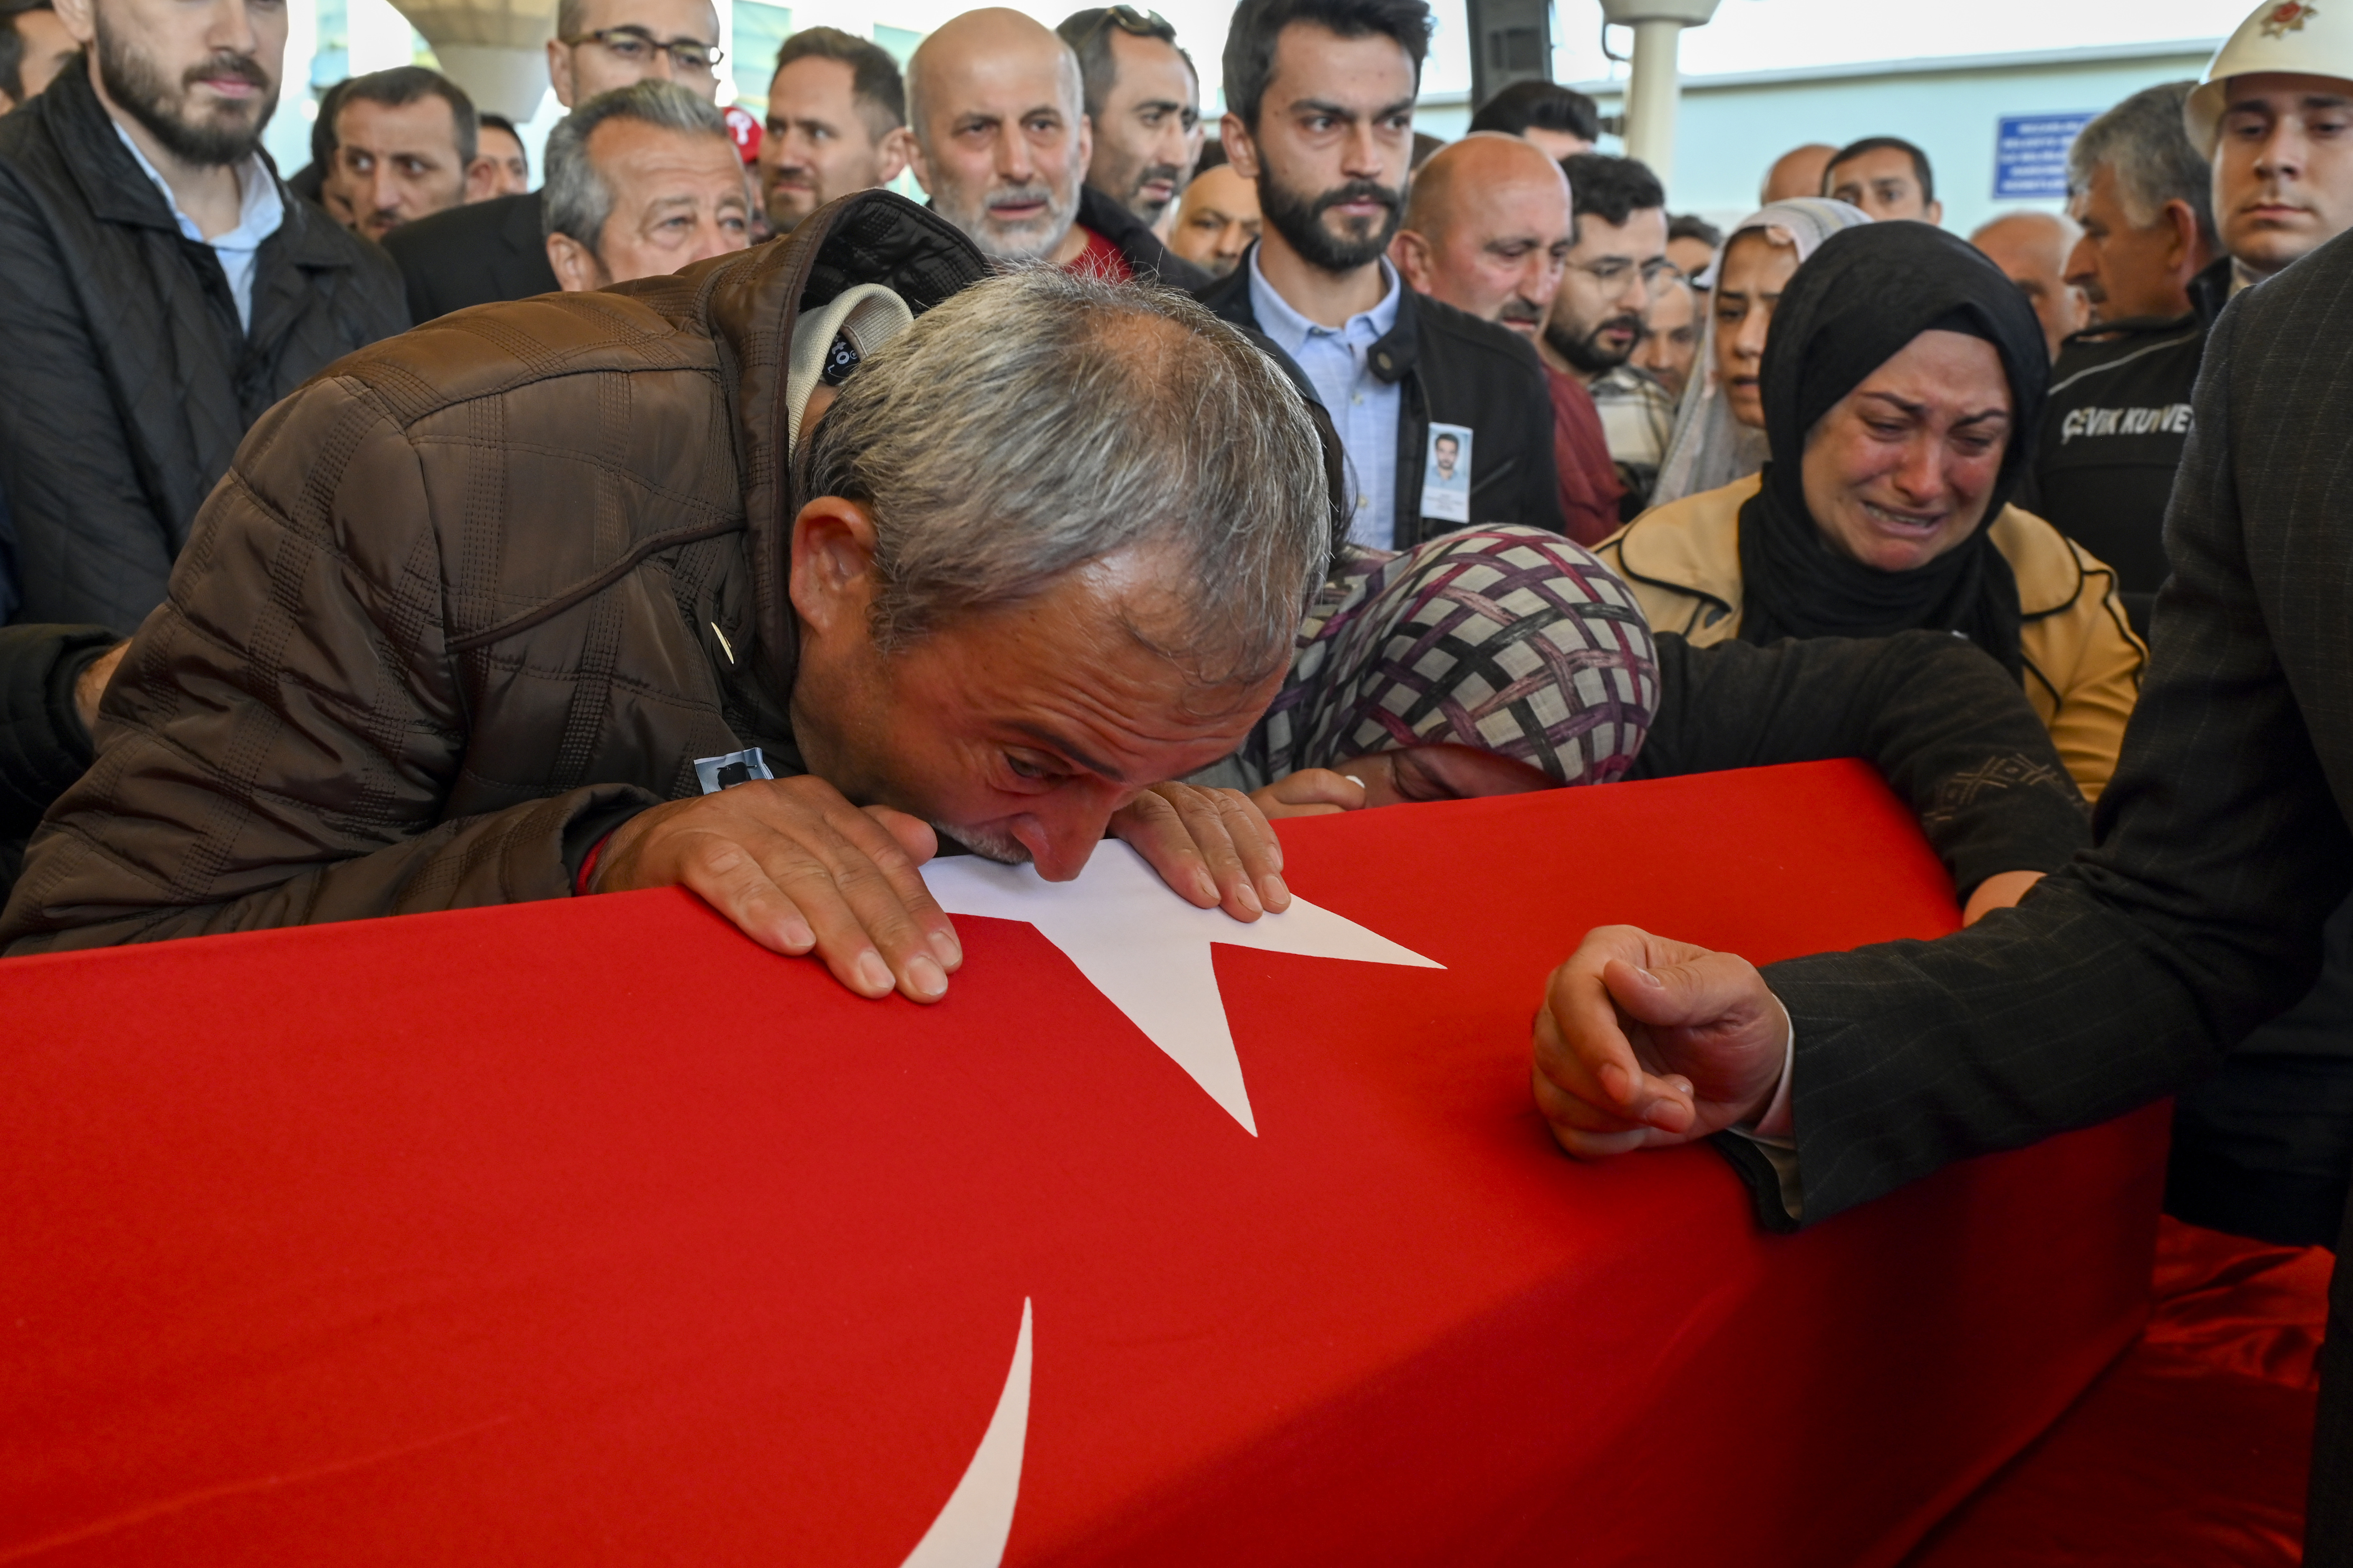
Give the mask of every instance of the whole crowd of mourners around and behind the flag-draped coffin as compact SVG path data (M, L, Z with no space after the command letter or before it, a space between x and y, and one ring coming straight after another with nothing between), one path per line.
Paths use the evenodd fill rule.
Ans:
M1960 240L1894 134L1725 228L1567 87L1421 136L1424 0L1242 0L1214 139L1125 5L793 33L746 136L708 0L562 0L536 188L424 66L282 179L273 0L5 5L7 952L680 884L932 1001L934 853L1257 919L1282 816L1852 755L1967 929L1598 931L1560 1143L1793 1227L2181 1091L2174 1213L2337 1241L2337 7Z

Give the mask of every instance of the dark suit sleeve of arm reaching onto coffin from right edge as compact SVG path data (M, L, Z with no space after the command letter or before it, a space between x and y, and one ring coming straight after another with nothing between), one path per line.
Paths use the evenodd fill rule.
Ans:
M2311 282L2339 280L2322 268ZM2252 289L2207 350L2167 517L2174 576L2097 849L1939 943L1765 971L1798 1030L1807 1222L2169 1093L2311 987L2320 926L2353 886L2353 839L2273 628L2337 628L2299 649L2299 672L2320 682L2306 705L2344 715L2344 574L2327 567L2346 559L2332 529L2353 475L2329 456L2344 449L2341 390L2311 386L2334 374L2311 350L2329 336L2271 313L2287 303L2278 284L2245 341ZM2257 397L2264 414L2242 414ZM2247 512L2266 515L2264 595Z

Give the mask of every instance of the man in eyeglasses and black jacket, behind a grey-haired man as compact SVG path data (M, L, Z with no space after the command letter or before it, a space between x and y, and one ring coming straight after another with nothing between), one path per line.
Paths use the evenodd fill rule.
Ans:
M574 108L645 80L718 101L720 16L711 0L562 0L548 40L555 101ZM541 195L501 195L433 214L386 235L409 284L409 315L553 294Z

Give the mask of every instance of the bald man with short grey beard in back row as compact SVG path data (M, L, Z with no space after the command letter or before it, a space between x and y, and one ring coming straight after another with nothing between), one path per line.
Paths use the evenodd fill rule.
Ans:
M1049 261L1096 277L1158 275L1200 289L1132 212L1087 186L1094 132L1078 56L1021 12L965 12L906 68L911 167L932 209L998 261Z

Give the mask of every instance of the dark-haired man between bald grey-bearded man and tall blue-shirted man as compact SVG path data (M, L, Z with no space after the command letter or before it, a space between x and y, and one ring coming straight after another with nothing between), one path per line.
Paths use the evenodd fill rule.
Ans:
M1075 12L1059 28L1078 54L1087 92L1094 158L1087 162L1087 205L1078 221L1096 228L1106 200L1153 233L1200 162L1200 78L1176 47L1176 28L1158 12L1134 7ZM1174 277L1165 277L1176 282ZM1181 287L1202 287L1207 275Z

